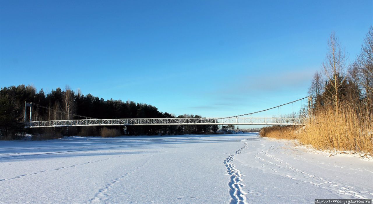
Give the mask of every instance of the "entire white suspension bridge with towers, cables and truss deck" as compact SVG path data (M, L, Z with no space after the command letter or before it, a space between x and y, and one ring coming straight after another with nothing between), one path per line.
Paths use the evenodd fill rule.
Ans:
M311 110L311 97L308 98L308 110ZM307 122L306 117L292 117L292 118L282 118L282 117L242 117L246 115L252 115L259 112L268 111L270 109L279 108L290 103L295 103L301 101L305 98L301 98L289 103L285 103L273 108L252 112L248 114L236 115L224 118L123 118L123 119L98 119L90 118L75 114L66 114L63 111L58 111L61 114L72 116L74 119L66 120L47 120L47 121L32 121L32 106L38 106L41 108L47 108L40 106L35 103L25 102L25 112L24 112L24 122L26 128L38 128L38 127L71 127L71 126L110 126L110 125L305 125ZM29 121L27 121L27 107L30 107ZM49 108L50 109L50 108ZM309 111L309 117L311 116L311 111ZM78 118L78 119L75 119ZM85 119L79 119L85 118Z

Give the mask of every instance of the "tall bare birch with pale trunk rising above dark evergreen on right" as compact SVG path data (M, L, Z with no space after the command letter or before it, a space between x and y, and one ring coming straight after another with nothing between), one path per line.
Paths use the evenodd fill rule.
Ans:
M339 89L342 83L338 80L339 74L342 74L345 69L345 61L347 58L345 49L338 41L338 37L335 36L335 32L330 34L330 38L327 42L328 53L325 61L323 62L324 74L327 77L332 89L327 89L332 96L335 108L338 108L340 96Z

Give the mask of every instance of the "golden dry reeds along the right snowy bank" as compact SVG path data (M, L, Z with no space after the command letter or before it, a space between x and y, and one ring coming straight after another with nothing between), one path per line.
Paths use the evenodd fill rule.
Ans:
M287 130L286 130L287 129ZM262 137L297 139L319 150L352 151L373 155L373 118L357 105L319 108L303 128L263 128Z

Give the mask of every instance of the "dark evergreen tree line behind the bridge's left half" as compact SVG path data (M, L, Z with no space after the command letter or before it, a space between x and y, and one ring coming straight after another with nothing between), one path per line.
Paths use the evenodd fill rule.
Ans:
M66 86L45 93L32 85L1 87L0 90L0 135L18 138L23 130L24 103L32 102L32 121L89 118L176 118L174 114L159 111L155 106L133 101L104 100L92 94L76 93ZM27 112L27 118L29 113ZM84 116L84 117L82 117ZM201 118L200 115L179 115L177 118ZM36 128L27 130L32 134L52 135L99 135L101 127ZM158 134L209 134L218 130L217 125L143 125L109 127L122 135ZM31 128L30 128L31 129ZM35 129L35 128L32 128ZM36 131L36 133L35 133Z

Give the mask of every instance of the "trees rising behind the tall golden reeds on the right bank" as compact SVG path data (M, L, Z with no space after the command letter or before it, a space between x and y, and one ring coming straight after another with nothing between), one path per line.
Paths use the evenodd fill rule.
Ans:
M330 34L327 45L322 70L314 74L308 90L314 108L334 106L338 110L341 104L348 103L372 113L373 27L370 26L361 50L351 64L346 63L347 52L335 32Z

